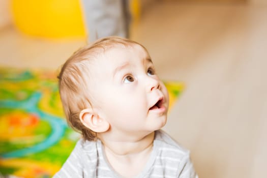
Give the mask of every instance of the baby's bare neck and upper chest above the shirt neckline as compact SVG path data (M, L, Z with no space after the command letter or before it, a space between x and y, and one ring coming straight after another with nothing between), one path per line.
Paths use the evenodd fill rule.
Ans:
M123 177L139 174L153 150L154 136L152 132L137 141L102 140L110 165Z

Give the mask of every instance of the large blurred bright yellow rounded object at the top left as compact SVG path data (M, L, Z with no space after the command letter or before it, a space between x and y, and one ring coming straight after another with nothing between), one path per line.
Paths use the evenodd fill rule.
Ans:
M79 0L11 0L15 26L36 37L85 37Z

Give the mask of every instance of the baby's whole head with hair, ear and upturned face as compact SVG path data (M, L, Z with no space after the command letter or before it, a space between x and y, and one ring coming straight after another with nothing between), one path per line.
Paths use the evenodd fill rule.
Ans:
M76 51L58 78L67 121L86 140L136 139L166 124L168 92L137 42L100 39Z

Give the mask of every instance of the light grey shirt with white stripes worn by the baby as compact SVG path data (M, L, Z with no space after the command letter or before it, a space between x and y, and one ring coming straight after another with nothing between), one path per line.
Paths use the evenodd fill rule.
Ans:
M60 171L53 177L121 177L109 165L103 144L98 141L80 139ZM197 178L190 153L177 144L164 131L155 132L153 150L144 169L135 176L143 177L194 177Z

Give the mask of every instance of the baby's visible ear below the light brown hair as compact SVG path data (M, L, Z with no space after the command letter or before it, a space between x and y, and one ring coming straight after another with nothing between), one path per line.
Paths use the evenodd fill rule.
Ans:
M109 129L109 123L91 108L83 109L79 117L85 127L96 133L106 132Z

